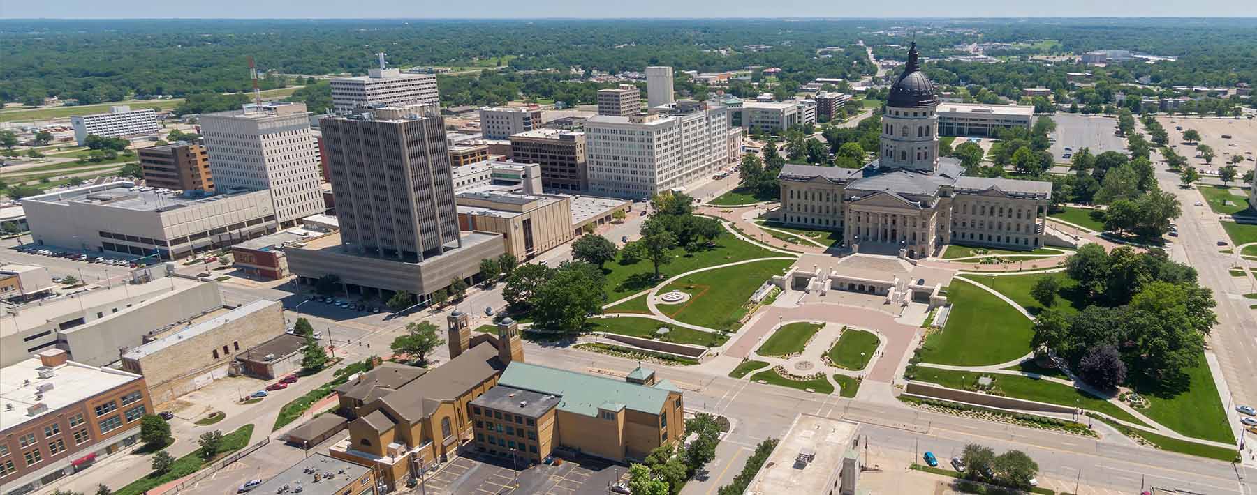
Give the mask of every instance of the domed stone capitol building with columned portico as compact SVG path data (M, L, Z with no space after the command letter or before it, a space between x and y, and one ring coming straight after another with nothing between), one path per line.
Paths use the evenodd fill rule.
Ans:
M877 160L861 168L786 165L778 219L842 231L851 253L915 259L947 244L1042 246L1052 182L962 176L959 160L939 156L938 107L914 43L886 99Z

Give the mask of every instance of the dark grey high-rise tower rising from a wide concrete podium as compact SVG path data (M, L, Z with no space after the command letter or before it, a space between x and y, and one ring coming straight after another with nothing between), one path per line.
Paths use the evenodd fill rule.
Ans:
M435 107L360 109L319 126L346 251L417 263L461 246Z

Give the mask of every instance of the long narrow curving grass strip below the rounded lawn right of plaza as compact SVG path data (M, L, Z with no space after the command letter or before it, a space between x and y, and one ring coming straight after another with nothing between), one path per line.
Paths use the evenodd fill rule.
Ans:
M965 386L974 386L978 382L978 372L967 371L954 371L954 369L938 369L938 368L918 368L916 379L938 383L944 387L964 389ZM1129 412L1117 407L1117 405L1105 401L1102 398L1092 397L1091 394L1082 392L1077 388L1063 383L1050 382L1046 379L1035 379L1029 377L1012 376L1012 374L988 374L996 379L996 389L1002 391L1006 396L1013 398L1024 398L1027 401L1038 401L1055 403L1060 406L1068 407L1081 407L1084 410L1102 412L1105 415L1112 416L1117 420L1128 421L1134 425L1144 425L1143 421L1136 420Z

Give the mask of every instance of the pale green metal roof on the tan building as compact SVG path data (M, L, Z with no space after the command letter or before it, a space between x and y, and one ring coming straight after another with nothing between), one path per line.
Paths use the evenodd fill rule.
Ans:
M507 366L498 384L558 396L559 410L585 416L597 416L606 403L657 415L669 394L662 388L520 362Z

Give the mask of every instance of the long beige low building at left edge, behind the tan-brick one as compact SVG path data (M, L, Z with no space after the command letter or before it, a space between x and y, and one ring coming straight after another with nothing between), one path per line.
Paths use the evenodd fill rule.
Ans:
M50 348L89 366L118 361L118 351L145 343L222 307L217 283L162 278L113 283L8 309L0 318L0 366Z

